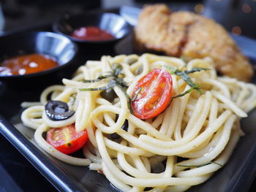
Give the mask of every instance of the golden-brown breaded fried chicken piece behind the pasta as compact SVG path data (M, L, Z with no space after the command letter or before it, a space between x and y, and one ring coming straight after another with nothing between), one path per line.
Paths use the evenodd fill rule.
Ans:
M216 69L249 81L253 69L225 28L192 12L171 12L164 4L146 6L135 27L135 47L156 50L190 61L211 57Z

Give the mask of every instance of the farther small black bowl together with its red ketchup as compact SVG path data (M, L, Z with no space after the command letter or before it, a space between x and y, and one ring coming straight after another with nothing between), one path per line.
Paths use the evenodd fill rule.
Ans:
M127 37L132 27L121 15L111 12L84 12L56 20L53 31L80 46L110 45Z

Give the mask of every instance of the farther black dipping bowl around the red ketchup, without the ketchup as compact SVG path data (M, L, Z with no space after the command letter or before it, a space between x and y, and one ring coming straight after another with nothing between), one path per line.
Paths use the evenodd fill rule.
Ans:
M72 37L72 33L81 27L97 27L108 32L113 36L113 39L78 39ZM53 23L53 31L72 39L74 42L80 43L110 43L117 42L129 34L131 26L120 15L114 13L83 13L81 15L71 16L69 18L61 18Z

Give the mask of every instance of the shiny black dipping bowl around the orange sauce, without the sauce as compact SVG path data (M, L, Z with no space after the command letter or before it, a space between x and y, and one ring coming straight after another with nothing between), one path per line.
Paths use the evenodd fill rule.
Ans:
M61 34L47 31L10 34L0 37L0 41L0 63L9 58L32 53L49 55L50 58L54 58L58 63L57 66L41 72L22 75L0 75L0 81L6 82L8 85L17 83L20 85L26 82L26 86L28 86L34 84L35 80L39 80L39 82L42 82L42 78L49 80L49 77L56 76L56 72L69 66L78 52L77 45L70 39Z

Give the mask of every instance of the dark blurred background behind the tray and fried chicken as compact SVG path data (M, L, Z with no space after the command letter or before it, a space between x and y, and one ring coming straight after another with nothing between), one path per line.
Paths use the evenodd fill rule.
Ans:
M42 25L91 9L142 7L159 2L168 4L173 11L189 10L214 18L233 34L256 39L256 0L0 0L0 31Z

